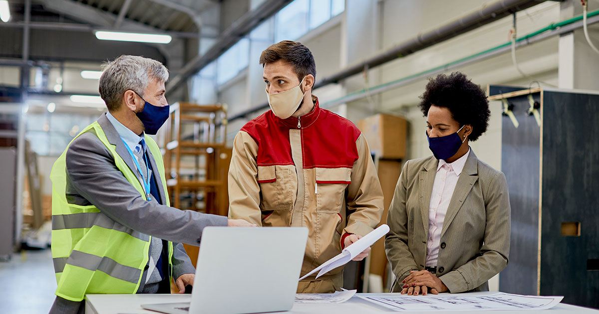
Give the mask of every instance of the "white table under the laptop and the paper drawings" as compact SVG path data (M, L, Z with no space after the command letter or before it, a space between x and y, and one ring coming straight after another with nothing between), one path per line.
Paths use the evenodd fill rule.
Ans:
M485 295L493 292L468 292L467 295ZM464 294L464 295L465 295ZM362 294L364 295L364 294ZM380 295L380 294L368 294ZM389 294L385 294L389 295ZM156 314L157 312L144 310L141 304L151 303L177 303L189 302L190 294L88 294L86 296L86 314ZM573 306L570 304L560 303L558 306L552 307L549 310L521 310L521 311L468 311L455 312L456 314L599 314L599 310L589 309L586 307ZM393 312L368 301L362 300L356 296L349 301L336 304L294 304L293 309L288 312L279 312L285 314L299 313L327 313L327 314L370 314L370 313L402 313ZM440 314L440 312L418 312L419 314Z

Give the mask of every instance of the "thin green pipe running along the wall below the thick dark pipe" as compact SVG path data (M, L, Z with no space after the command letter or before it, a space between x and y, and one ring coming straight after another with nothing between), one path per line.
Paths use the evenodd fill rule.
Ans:
M594 16L597 16L597 15L599 15L599 10L595 10L595 11L591 11L591 12L586 13L586 17L587 18L594 17ZM561 28L562 26L570 25L571 23L575 23L575 22L578 22L580 20L582 20L582 14L580 14L579 16L576 16L576 17L572 17L571 19L563 20L562 22L551 23L550 25L548 25L548 26L546 26L544 28L541 28L538 31L535 31L535 32L532 32L532 33L528 33L527 35L524 35L524 36L521 36L519 38L516 38L516 42L527 40L528 38L531 38L531 37L534 37L536 35L539 35L540 33L543 33L543 32L546 32L546 31L553 31L556 28ZM367 93L371 89L378 89L380 87L385 87L385 86L389 86L391 84L400 83L401 81L410 80L411 78L419 77L420 75L424 75L424 74L429 73L429 72L435 72L435 71L438 71L440 69L446 68L447 66L452 66L452 65L455 65L456 63L461 63L461 62L464 62L466 60L473 59L473 58L478 57L478 56L480 56L482 54L486 54L486 53L489 53L491 51L504 48L504 47L509 46L511 44L512 44L512 41L509 41L509 42L506 42L505 44L497 45L497 46L489 48L487 50L480 51L479 53L471 54L470 56L463 57L461 59L454 60L454 61L449 62L449 63L445 63L444 65L436 66L435 68L432 68L432 69L428 69L428 70L425 70L425 71L422 71L422 72L418 72L416 74L412 74L412 75L409 75L407 77L399 78L398 80L395 80L395 81L390 81L390 82L387 82L387 83L383 83L383 84L380 84L380 85L369 87L368 89L358 90L357 92L349 93L349 94L347 94L347 95L345 95L343 97L339 97L339 98L331 100L329 102L325 102L325 103L322 104L322 106L325 107L328 103L339 102L340 100L343 100L344 98L347 98L347 97L352 97L352 96L356 96L358 94Z

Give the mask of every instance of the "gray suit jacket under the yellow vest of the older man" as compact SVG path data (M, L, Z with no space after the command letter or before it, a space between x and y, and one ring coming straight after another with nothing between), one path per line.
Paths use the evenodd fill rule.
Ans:
M131 155L120 139L119 133L108 121L105 114L98 119L110 144L116 145L116 152L138 176L141 176ZM161 199L166 198L154 157L148 151L154 179ZM195 273L183 245L199 245L202 230L209 225L227 225L227 218L201 214L194 211L181 211L161 205L155 199L144 200L140 193L123 176L114 164L110 151L93 132L78 136L66 151L66 199L76 205L94 205L102 214L114 220L115 224L139 231L150 236L173 242L173 275L178 278L184 273ZM146 272L142 281L146 282ZM140 285L138 292L143 289Z

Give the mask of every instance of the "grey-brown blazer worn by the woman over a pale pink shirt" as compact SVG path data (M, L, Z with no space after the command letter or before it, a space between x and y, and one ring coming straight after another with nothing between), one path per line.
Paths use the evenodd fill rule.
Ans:
M410 270L423 270L428 239L428 210L438 160L406 161L389 207L387 258L400 292ZM506 177L471 150L453 191L441 229L436 276L452 293L488 291L488 280L507 266L510 251L510 202Z

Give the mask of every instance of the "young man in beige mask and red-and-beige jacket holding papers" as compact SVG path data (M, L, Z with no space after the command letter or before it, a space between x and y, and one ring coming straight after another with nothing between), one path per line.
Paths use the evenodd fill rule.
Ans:
M316 65L310 50L299 42L282 41L264 50L260 63L272 110L235 136L229 218L308 227L304 275L376 227L383 193L360 130L320 108L312 95ZM298 292L340 290L342 275L343 267L319 279L314 274L299 282Z

